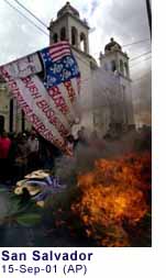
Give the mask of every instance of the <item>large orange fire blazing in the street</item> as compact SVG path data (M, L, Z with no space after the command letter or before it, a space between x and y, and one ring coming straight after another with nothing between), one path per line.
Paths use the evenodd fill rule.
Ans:
M102 246L130 246L124 229L136 226L150 211L151 155L133 154L119 159L99 159L95 169L78 177L79 215L88 236Z

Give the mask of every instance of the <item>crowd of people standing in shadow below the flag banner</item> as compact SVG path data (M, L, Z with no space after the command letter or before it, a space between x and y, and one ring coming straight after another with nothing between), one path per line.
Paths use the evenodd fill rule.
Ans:
M67 144L71 152L79 144L86 145L84 127L78 131L77 137L69 135ZM19 134L3 131L0 135L0 181L12 185L33 170L52 170L55 159L60 156L60 151L35 130Z

